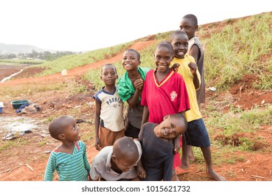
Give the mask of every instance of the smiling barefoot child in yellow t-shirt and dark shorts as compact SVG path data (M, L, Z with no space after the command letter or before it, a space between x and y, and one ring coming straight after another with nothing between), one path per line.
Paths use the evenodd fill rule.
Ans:
M197 70L197 64L192 56L186 54L188 50L188 36L184 31L174 31L170 36L171 43L174 47L174 63L179 64L178 73L182 75L190 100L190 110L185 112L185 117L188 122L186 132L183 134L183 146L181 157L181 168L189 169L190 164L188 160L188 145L200 147L204 156L206 164L206 174L209 178L214 180L226 180L213 170L211 162L211 143L209 134L204 125L202 115L200 114L197 105L196 89L199 88L200 75ZM174 67L173 67L174 68ZM186 144L185 142L186 141Z

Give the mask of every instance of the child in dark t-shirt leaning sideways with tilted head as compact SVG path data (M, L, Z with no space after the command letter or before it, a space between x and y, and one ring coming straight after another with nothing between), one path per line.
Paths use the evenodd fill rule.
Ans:
M144 123L139 134L142 144L142 166L139 173L146 181L171 181L174 160L173 140L186 131L187 121L182 114L165 116L160 124Z

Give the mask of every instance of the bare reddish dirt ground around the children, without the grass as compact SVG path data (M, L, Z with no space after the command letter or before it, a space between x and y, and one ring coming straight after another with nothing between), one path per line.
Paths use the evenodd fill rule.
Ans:
M141 50L147 45L154 42L154 40L149 40L146 42L135 42L132 48ZM49 75L46 77L32 77L32 78L18 78L15 80L6 81L0 83L0 89L3 86L9 86L12 88L18 84L39 84L40 82L56 83L56 82L70 82L77 81L78 84L84 82L87 88L89 88L88 94L79 93L76 95L71 95L68 91L46 91L34 95L22 94L18 99L27 99L36 101L40 105L42 110L36 114L22 114L23 116L28 116L31 118L37 118L38 120L45 120L50 116L56 116L58 114L71 114L70 111L73 109L73 116L77 120L84 120L80 123L80 128L84 133L93 130L93 86L91 83L83 81L81 76L84 72L89 71L91 68L99 68L105 63L113 63L121 59L122 54L117 54L112 57L112 59L107 59L104 61L98 61L90 65L85 65L80 68L74 68L73 70L68 70L67 76L61 76L60 74ZM0 66L1 68L1 66ZM7 70L10 71L10 70ZM33 72L39 72L31 68ZM17 70L14 70L15 73ZM33 72L28 72L28 75L33 74ZM0 80L3 77L7 77L11 72L6 73L5 68L0 71ZM22 75L21 75L22 76ZM217 100L216 104L218 107L222 107L223 112L229 111L231 105L234 107L240 107L243 110L251 109L255 105L263 107L264 104L271 104L271 91L257 91L252 88L252 84L256 81L257 77L255 75L245 75L239 83L233 86L228 93L216 94L207 89L206 91L206 104L211 100ZM229 103L222 104L223 101L228 101ZM10 105L10 100L7 97L3 97L4 110L1 116L17 116L15 109ZM90 102L90 103L89 103ZM86 103L89 103L88 107L84 107ZM205 109L206 104L202 105L202 109ZM76 112L74 110L77 110ZM0 118L1 118L0 116ZM205 118L205 116L204 116ZM243 156L245 160L243 162L235 162L234 164L224 164L223 166L216 167L214 169L218 173L222 174L227 178L227 180L233 181L250 181L250 180L272 180L272 155L271 155L271 144L272 144L272 127L271 125L262 126L259 128L256 134L239 134L238 137L263 137L266 141L266 145L260 143L261 148L266 147L266 152L260 152L258 148L254 153L247 153L241 151L234 151L231 155ZM58 141L52 139L50 136L42 136L40 134L25 134L23 136L18 136L17 139L13 140L14 146L10 146L5 150L1 150L0 154L0 180L2 181L26 181L26 180L43 180L43 174L45 171L45 166L49 154L45 153L46 150L52 150L55 146L59 144ZM17 147L16 144L27 142L24 147ZM0 144L4 145L6 141L1 141ZM93 146L93 139L85 141L87 146L87 156L89 162L98 153L98 151ZM257 146L256 146L257 147ZM211 146L211 150L217 150L217 146ZM225 154L226 155L226 154ZM229 157L230 155L222 156ZM180 180L211 180L206 178L204 164L192 163L190 173L183 174L179 176ZM55 177L57 180L57 176Z

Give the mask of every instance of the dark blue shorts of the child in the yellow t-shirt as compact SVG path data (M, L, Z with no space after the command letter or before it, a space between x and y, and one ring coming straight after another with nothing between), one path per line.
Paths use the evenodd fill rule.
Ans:
M202 118L188 122L186 132L184 132L186 145L206 148L211 146L209 134L206 130Z

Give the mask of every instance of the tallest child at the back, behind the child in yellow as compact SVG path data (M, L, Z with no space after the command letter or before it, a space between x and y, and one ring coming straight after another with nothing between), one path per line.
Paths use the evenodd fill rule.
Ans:
M201 77L200 88L197 90L197 104L199 111L201 111L201 104L205 103L204 51L199 38L195 36L195 32L198 29L197 17L192 14L183 16L179 28L188 35L189 45L187 54L195 59ZM188 155L190 161L195 161L195 155L192 152L191 146L188 146Z

